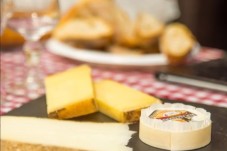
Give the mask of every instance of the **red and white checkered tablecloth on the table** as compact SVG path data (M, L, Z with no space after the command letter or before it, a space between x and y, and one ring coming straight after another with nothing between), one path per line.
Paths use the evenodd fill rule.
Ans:
M223 53L220 50L203 48L197 56L197 59L200 61L210 60L218 58L222 54ZM56 56L48 51L43 51L40 67L44 76L47 76L80 64L81 62ZM8 75L7 77L10 80L16 81L20 80L20 74L23 74L24 70L24 57L21 49L1 52L1 74ZM19 73L15 71L19 71ZM159 98L179 100L182 102L188 101L202 103L227 108L226 93L156 81L151 72L136 70L126 71L96 66L92 67L92 76L94 80L112 79ZM4 80L1 81L1 97L4 98L5 101L4 103L1 103L0 115L31 101L27 96L18 97L5 93L3 82ZM37 93L41 96L45 93L45 90L40 90Z

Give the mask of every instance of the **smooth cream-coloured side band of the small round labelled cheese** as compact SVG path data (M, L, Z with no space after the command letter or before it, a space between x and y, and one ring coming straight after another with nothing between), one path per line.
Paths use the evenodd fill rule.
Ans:
M139 138L144 143L166 150L192 150L206 146L211 141L211 124L187 132L171 132L154 129L140 121Z

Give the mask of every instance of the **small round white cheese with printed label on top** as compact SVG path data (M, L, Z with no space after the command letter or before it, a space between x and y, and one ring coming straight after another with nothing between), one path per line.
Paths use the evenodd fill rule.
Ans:
M139 138L167 150L192 150L211 141L210 113L180 103L153 105L141 111Z

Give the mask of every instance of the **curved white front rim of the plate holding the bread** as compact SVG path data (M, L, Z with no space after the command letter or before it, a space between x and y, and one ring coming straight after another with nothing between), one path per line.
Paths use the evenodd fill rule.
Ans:
M154 66L167 64L167 58L163 54L122 56L101 51L79 49L54 39L48 40L46 46L48 50L54 54L89 63L132 66Z

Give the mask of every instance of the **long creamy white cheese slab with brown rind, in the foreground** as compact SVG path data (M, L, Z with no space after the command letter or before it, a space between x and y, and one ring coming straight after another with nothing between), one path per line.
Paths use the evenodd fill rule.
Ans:
M127 124L1 117L1 151L131 151ZM108 137L111 136L111 137Z

